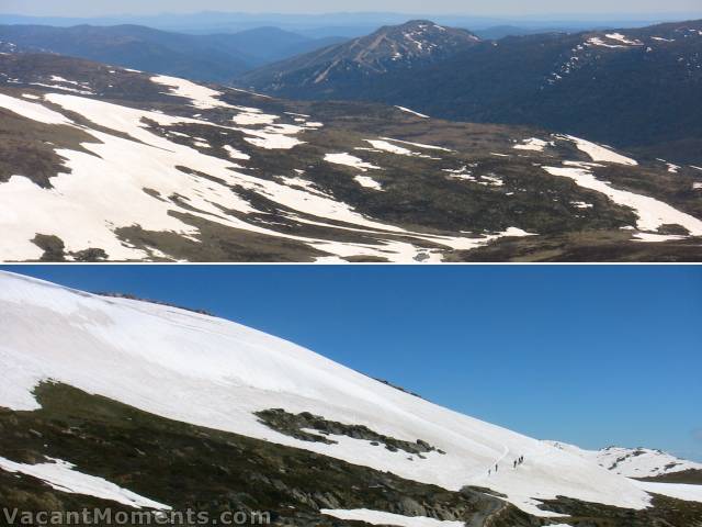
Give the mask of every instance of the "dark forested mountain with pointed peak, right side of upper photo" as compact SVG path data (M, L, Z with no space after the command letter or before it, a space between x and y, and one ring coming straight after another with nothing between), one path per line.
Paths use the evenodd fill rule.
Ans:
M423 36L423 46L441 45L435 34ZM380 34L353 42L374 37ZM650 159L700 164L701 54L702 22L693 21L466 41L440 60L398 61L362 75L339 45L246 74L240 82L279 97L377 101L456 121L536 125Z

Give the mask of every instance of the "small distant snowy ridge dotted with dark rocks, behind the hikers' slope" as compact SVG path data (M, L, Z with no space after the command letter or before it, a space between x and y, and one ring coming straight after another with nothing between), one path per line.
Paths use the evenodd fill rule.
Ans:
M650 448L608 447L601 450L584 450L563 442L548 442L556 448L590 459L600 467L626 478L655 478L686 470L702 470L702 463L680 459L663 450Z

